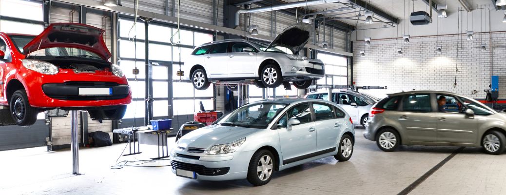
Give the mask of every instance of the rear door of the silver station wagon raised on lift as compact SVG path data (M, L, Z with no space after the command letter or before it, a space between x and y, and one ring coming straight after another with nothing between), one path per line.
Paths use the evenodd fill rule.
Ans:
M229 43L213 45L207 54L204 55L205 71L210 78L227 78L227 47Z

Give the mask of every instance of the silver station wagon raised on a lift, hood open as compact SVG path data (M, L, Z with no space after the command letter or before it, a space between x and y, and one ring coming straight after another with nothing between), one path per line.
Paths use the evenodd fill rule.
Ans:
M298 55L312 31L313 26L304 23L289 26L270 45L242 39L204 44L184 60L185 75L198 90L211 82L246 80L268 88L292 82L307 89L325 72L321 60Z

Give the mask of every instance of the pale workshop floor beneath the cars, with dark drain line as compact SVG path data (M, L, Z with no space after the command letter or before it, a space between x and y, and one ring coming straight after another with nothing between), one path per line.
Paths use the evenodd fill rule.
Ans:
M110 169L124 144L80 150L74 176L70 150L44 147L0 152L0 194L398 194L458 147L401 146L383 152L356 129L355 151L348 162L333 157L276 172L267 185L246 180L209 182L176 177L170 167ZM174 137L169 138L174 143ZM156 156L156 147L122 160ZM167 165L168 161L145 165ZM489 155L465 148L409 194L506 194L506 154Z

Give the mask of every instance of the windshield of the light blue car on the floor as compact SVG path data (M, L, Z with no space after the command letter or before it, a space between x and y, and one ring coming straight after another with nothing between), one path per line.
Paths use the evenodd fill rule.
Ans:
M284 107L286 104L270 102L242 106L215 125L265 129Z

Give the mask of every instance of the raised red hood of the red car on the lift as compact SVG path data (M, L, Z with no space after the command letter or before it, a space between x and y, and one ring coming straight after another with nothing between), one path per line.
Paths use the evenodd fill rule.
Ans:
M107 60L111 53L105 45L104 30L78 23L54 23L23 47L23 54L47 48L77 48L93 52Z

